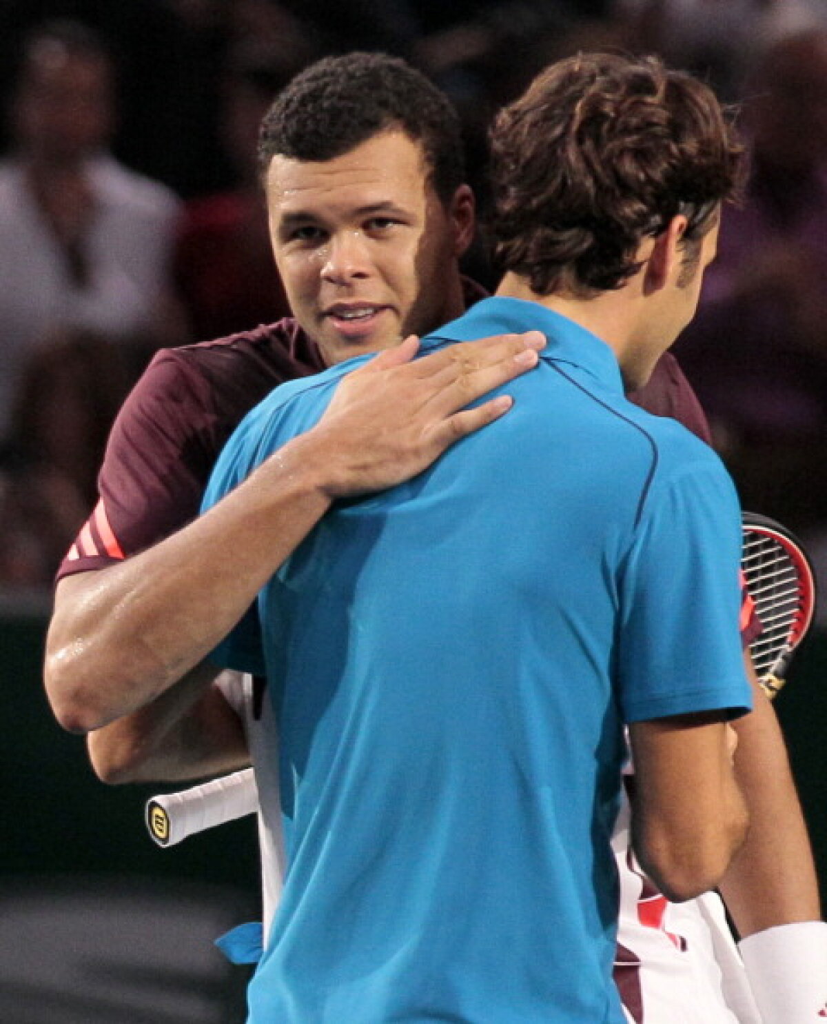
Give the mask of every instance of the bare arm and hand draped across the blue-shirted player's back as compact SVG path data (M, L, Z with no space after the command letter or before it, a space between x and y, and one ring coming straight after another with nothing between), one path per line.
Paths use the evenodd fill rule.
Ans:
M504 396L465 407L535 365L545 339L510 335L410 361L417 344L343 380L313 430L207 515L133 558L60 582L44 675L64 728L98 729L167 690L232 629L332 501L415 476L503 415Z

